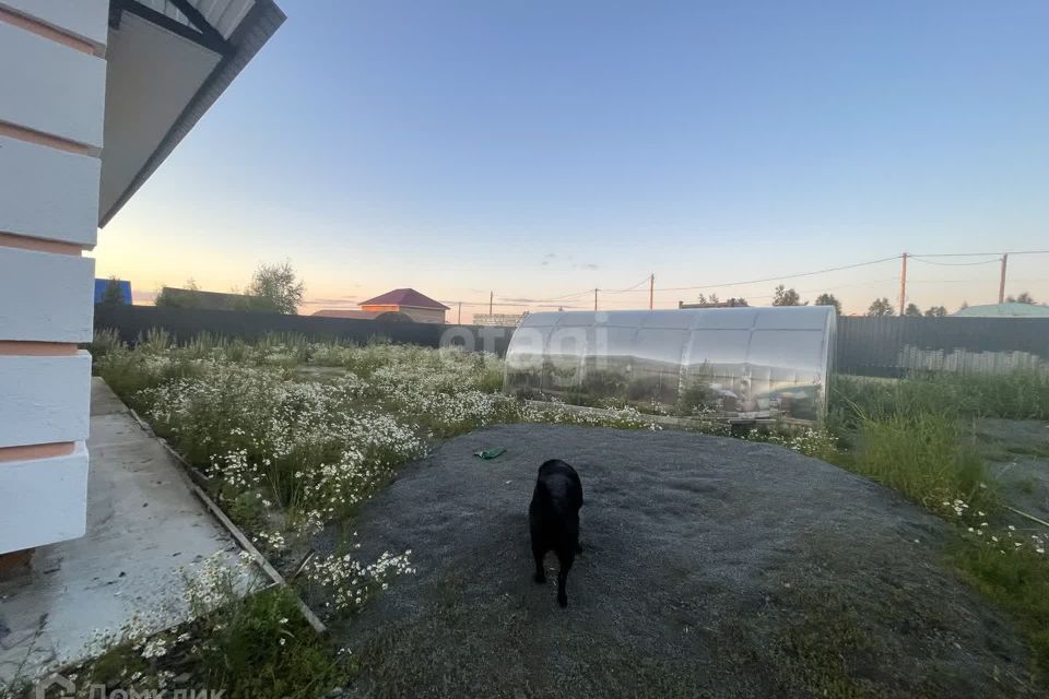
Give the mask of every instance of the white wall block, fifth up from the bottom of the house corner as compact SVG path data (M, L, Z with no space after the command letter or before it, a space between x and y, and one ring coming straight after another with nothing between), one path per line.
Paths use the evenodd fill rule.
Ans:
M105 60L0 22L0 121L102 147Z

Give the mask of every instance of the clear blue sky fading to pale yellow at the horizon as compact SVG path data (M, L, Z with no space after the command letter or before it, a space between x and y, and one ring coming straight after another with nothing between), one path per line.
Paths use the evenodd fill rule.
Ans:
M285 24L99 232L137 303L290 260L302 312L769 303L911 254L994 303L1049 249L1049 3L278 0ZM965 263L965 264L958 264ZM846 312L900 260L786 280ZM702 287L702 288L700 288ZM620 289L633 289L623 292ZM1049 256L1006 293L1049 300Z

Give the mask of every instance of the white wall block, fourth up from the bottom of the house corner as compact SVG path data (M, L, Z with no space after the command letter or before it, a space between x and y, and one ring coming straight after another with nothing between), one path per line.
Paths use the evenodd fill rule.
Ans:
M0 137L0 232L94 247L101 170L97 157Z

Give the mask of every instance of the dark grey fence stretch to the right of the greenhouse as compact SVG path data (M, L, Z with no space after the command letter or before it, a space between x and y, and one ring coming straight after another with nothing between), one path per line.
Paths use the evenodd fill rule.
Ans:
M1049 374L1049 318L838 318L835 369Z

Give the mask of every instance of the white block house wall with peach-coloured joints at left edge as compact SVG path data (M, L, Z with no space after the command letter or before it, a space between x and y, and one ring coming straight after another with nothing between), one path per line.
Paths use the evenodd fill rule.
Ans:
M106 0L0 0L0 556L83 534Z

